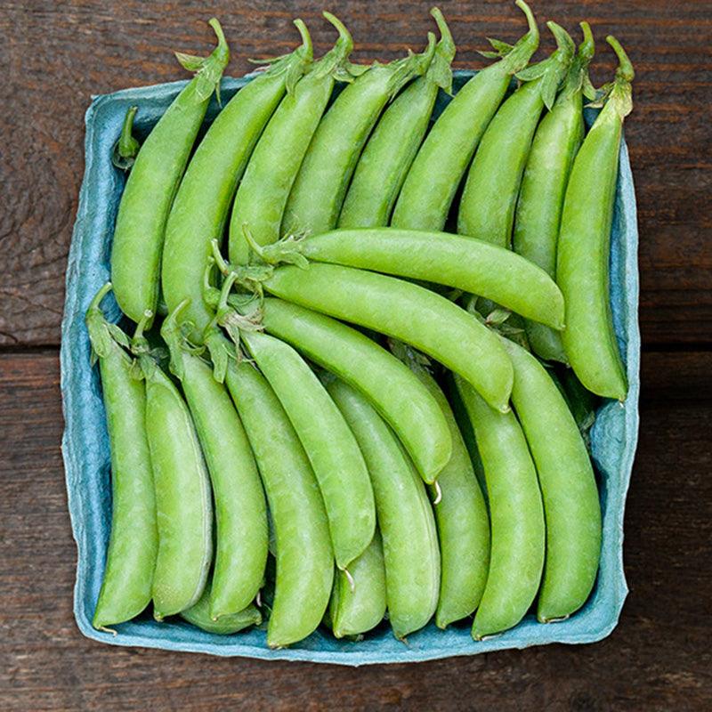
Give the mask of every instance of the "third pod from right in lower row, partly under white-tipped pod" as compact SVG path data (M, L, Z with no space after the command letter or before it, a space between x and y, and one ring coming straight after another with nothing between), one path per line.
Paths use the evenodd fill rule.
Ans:
M452 457L433 493L442 568L435 623L445 628L480 604L490 567L490 518L448 399L425 368L411 368L437 399L452 434Z

